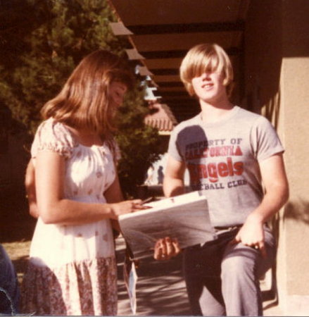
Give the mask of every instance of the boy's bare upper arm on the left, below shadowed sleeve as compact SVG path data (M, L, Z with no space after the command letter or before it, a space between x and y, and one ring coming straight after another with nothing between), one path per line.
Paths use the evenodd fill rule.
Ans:
M184 194L184 162L179 162L168 156L168 163L163 180L163 192L165 197L177 196Z

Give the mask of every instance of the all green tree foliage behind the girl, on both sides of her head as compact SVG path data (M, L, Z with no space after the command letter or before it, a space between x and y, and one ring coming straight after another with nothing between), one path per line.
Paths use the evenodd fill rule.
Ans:
M116 18L106 0L11 1L0 13L0 106L33 135L41 121L39 110L84 56L96 49L125 56L130 44L112 34L109 23ZM120 178L131 187L141 182L142 170L160 151L158 133L144 125L147 112L139 89L120 111Z

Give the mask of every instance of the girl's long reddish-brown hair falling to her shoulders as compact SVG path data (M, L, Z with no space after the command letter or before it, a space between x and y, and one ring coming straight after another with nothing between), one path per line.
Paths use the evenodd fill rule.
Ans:
M61 92L43 106L41 114L44 119L53 117L72 128L86 128L107 136L115 130L115 108L109 96L114 81L132 88L129 67L109 51L94 51L82 59Z

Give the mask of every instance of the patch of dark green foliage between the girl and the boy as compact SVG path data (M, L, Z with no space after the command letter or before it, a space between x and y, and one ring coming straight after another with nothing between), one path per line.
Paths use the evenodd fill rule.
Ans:
M143 99L144 92L134 89L120 108L118 135L122 157L118 172L122 189L130 196L136 195L136 186L144 182L146 171L151 163L163 153L158 131L144 125L144 117L149 109Z

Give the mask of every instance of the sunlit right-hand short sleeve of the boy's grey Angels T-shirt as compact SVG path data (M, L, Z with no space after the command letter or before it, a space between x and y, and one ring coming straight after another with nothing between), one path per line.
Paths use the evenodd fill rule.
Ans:
M263 116L260 116L253 125L251 141L258 161L263 161L270 156L284 152L284 147L280 142L275 128Z

